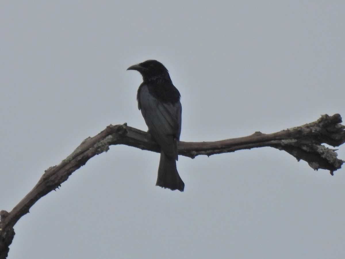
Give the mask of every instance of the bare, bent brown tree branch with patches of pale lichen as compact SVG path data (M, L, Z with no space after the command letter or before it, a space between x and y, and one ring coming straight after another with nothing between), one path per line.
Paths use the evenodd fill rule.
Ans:
M213 155L254 147L270 146L284 150L299 160L308 162L314 170L333 172L341 168L343 160L337 158L336 150L322 145L339 146L345 142L344 126L339 114L322 115L317 121L289 128L272 134L255 132L246 137L230 138L214 142L179 142L178 153L194 158L197 155ZM6 258L14 237L13 226L34 203L58 188L68 177L93 156L108 151L110 145L124 144L160 152L149 133L123 125L109 125L94 137L86 138L75 151L56 166L49 167L36 186L13 208L0 212L0 259Z

